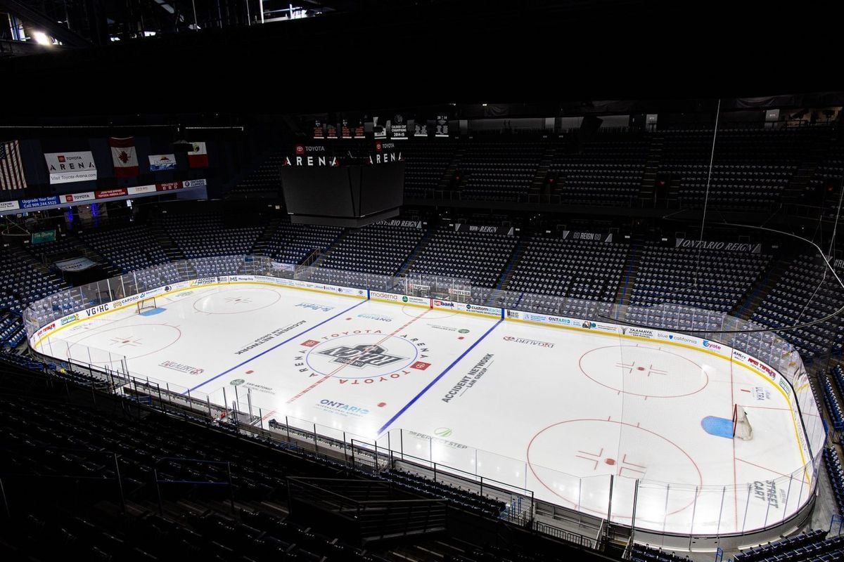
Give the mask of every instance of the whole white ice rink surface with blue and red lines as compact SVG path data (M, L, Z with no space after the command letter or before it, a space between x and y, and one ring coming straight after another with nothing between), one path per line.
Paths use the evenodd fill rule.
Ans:
M740 533L807 500L785 394L690 345L259 283L194 287L56 329L49 356L262 418L306 420L597 517ZM724 435L733 404L754 438ZM401 430L401 431L399 431ZM400 444L396 441L400 440ZM614 481L610 506L610 479Z

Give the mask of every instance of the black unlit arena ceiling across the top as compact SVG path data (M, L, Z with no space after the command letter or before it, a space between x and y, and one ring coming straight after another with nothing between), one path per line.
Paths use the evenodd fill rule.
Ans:
M105 30L95 19L65 45L0 59L4 97L17 114L287 113L844 89L836 3L311 0L300 5L315 17L247 25L251 2L195 0L194 20L191 2L169 13L166 0L84 0ZM46 7L46 21L63 3L0 0L0 11ZM228 23L192 27L223 6ZM156 35L130 37L140 20Z

